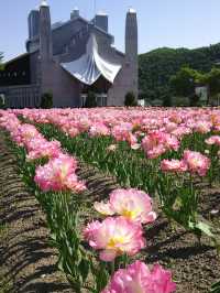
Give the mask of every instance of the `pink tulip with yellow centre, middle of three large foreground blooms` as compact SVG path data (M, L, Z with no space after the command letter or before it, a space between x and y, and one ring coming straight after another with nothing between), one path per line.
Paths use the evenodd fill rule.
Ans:
M139 224L123 217L106 218L100 226L98 223L89 225L84 231L89 245L100 250L99 257L103 261L112 261L118 256L134 256L145 247L143 230Z

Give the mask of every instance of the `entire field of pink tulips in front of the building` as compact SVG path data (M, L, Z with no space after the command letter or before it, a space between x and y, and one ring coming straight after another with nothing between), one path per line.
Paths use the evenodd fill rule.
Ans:
M220 292L219 108L0 110L0 128L73 292ZM81 166L117 187L89 198Z

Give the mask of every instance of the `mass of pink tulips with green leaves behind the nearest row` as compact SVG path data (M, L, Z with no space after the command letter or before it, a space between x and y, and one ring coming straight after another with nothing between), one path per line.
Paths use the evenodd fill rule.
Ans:
M122 186L158 195L169 220L199 239L204 232L218 245L211 227L198 215L200 198L195 184L219 180L218 109L55 109L15 113L40 123L47 139L57 139L68 152L113 174Z

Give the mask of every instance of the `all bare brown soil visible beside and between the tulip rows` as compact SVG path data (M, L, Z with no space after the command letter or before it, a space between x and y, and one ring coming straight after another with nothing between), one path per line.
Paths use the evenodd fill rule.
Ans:
M21 180L18 180L13 166L15 162L9 161L8 158L11 156L1 139L0 149L3 150L0 167L6 165L6 169L0 169L0 186L3 191L0 203L4 211L4 223L9 224L8 241L3 241L0 257L4 267L7 264L10 269L14 292L70 292L64 278L56 271L56 254L47 246L48 231L44 227L37 203L33 196L25 193ZM119 185L116 180L85 164L80 165L78 175L86 181L88 187L82 197L85 223L98 217L91 207L92 203L107 198ZM220 215L211 217L211 209L220 209L220 188L205 186L200 205L202 217L219 226ZM194 235L179 227L170 228L160 211L158 214L155 224L145 229L147 248L139 258L148 264L160 262L170 269L177 283L177 293L208 293L210 285L220 280L220 258L217 250L206 237L202 237L201 245L198 245Z

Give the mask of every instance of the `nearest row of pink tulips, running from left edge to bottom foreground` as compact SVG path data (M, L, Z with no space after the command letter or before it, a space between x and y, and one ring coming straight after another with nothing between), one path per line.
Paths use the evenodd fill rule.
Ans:
M160 264L148 268L141 261L131 263L146 245L142 225L156 219L146 193L116 189L108 203L95 204L110 217L89 223L80 232L86 186L76 175L76 159L63 152L58 141L47 141L34 126L21 123L11 112L0 112L0 126L10 133L22 174L46 213L51 242L59 252L58 267L75 292L176 290L170 272Z

